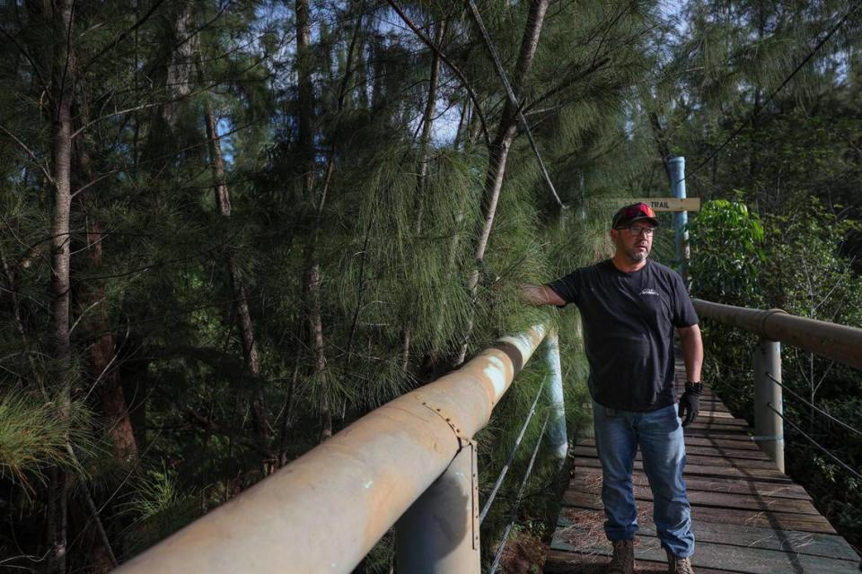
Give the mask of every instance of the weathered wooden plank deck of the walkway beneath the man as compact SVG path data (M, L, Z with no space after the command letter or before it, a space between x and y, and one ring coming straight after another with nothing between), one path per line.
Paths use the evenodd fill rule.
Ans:
M678 376L684 374L677 366ZM750 439L717 396L707 391L700 415L685 429L685 481L697 539L698 574L859 574L859 556ZM652 493L635 462L638 572L666 572L652 521ZM592 439L579 439L545 572L599 574L609 561L604 537L602 471Z

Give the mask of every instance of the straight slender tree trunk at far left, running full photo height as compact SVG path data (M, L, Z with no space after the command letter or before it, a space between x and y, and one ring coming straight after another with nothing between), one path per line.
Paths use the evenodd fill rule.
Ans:
M58 0L55 7L53 94L54 213L52 218L51 348L57 384L59 416L69 419L72 384L72 350L69 344L70 249L69 214L72 204L72 98L74 86L71 38L72 0ZM49 570L66 572L68 488L70 477L60 468L52 472L48 535L51 544Z

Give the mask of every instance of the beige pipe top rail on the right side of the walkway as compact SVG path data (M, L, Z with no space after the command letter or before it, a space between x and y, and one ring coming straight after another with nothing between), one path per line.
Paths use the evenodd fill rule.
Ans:
M850 367L862 369L862 329L790 315L781 309L747 309L694 300L700 317L750 331L770 341L792 344Z

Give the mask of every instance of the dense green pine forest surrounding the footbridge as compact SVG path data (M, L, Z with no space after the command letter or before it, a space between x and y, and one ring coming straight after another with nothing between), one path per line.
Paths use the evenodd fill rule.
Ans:
M835 300L862 249L858 4L23 0L0 22L10 566L108 571L539 320L576 421L577 317L520 285L607 257L603 199L667 196L674 155L717 200L695 290L862 321Z

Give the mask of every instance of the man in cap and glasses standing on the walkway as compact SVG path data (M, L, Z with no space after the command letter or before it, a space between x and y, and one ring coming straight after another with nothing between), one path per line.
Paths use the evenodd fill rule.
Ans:
M690 574L694 552L682 481L682 427L698 415L703 344L682 278L648 259L658 227L647 204L623 207L611 222L614 255L547 285L525 285L532 305L575 303L584 325L595 446L602 462L605 534L613 546L608 574L634 570L638 511L632 468L640 448L653 491L655 530L668 572ZM673 332L680 336L687 381L677 412Z

